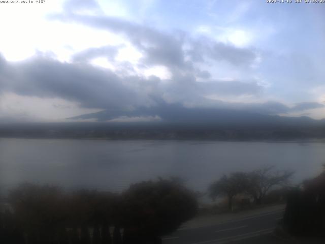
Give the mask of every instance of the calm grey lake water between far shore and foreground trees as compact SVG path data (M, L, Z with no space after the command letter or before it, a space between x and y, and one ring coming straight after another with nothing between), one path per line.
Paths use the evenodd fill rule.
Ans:
M158 176L180 176L206 191L222 174L264 165L295 170L294 181L317 175L324 141L220 142L0 138L2 191L22 181L67 189L121 191Z

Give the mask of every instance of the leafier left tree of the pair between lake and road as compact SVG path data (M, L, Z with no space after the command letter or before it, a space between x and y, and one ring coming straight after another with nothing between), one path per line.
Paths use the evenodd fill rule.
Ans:
M209 187L209 195L214 200L216 197L228 197L228 208L233 209L233 198L243 193L247 187L247 176L243 172L235 172L223 175L220 179L213 182Z

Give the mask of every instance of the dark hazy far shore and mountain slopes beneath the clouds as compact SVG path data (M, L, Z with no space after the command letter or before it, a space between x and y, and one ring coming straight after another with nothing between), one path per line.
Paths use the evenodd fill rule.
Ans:
M200 110L202 111L202 110ZM325 120L285 117L236 110L192 111L161 121L111 123L35 123L0 125L0 137L99 139L264 140L325 138ZM91 115L82 115L84 118ZM81 117L81 116L79 116ZM172 116L171 116L172 117ZM164 118L164 117L163 117Z

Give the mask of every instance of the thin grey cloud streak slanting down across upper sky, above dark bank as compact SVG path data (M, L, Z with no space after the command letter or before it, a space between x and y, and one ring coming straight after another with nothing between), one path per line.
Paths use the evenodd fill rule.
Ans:
M50 19L76 22L124 35L143 54L145 65L165 65L171 68L191 70L192 62L204 62L205 58L225 60L231 65L250 65L256 59L255 50L232 44L216 42L211 38L191 38L187 33L173 31L163 33L157 29L111 16L92 16L73 13L51 15ZM188 43L187 50L183 46ZM185 60L188 55L190 60Z

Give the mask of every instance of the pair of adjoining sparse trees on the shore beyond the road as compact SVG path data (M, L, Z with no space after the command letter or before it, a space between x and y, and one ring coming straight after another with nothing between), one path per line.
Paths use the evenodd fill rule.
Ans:
M256 205L261 205L274 187L288 185L293 171L276 171L274 166L265 166L252 172L233 172L223 175L209 187L209 196L228 198L228 209L233 209L233 200L239 194L251 197Z

